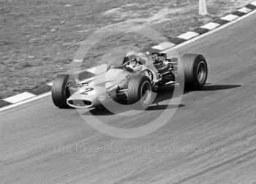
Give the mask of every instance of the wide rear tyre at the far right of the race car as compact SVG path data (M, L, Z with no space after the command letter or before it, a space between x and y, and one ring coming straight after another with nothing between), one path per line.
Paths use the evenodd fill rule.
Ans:
M182 67L182 69L180 68ZM178 69L179 80L185 89L199 90L205 85L208 75L206 58L200 54L185 54Z

